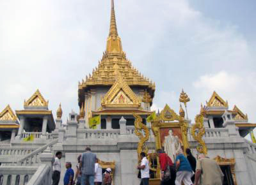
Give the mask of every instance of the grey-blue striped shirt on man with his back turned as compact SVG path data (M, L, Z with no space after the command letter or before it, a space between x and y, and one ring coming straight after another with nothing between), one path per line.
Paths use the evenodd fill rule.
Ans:
M82 164L82 174L85 175L94 175L95 172L95 161L96 154L93 154L91 151L86 151L81 156L81 164Z

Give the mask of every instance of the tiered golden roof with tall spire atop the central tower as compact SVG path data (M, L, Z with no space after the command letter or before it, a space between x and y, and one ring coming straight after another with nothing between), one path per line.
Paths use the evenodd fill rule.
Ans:
M89 77L86 76L82 82L79 82L79 107L82 106L82 102L84 101L84 92L86 92L89 87L97 85L110 86L115 83L115 64L118 64L119 71L128 85L144 86L147 88L150 96L152 98L154 97L156 85L148 78L141 75L141 73L132 66L131 61L126 58L126 54L122 50L122 42L118 36L116 28L115 9L114 2L112 0L111 21L106 52L103 53L102 59L99 61L99 65L93 69L92 75L89 75Z

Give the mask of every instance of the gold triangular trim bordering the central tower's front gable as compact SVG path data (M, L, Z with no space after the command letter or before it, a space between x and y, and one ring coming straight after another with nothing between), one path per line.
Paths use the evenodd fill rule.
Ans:
M127 98L132 101L132 104L126 102L112 102L120 91L123 91L125 95L127 95ZM127 85L126 81L120 75L120 73L118 73L115 84L112 85L108 93L104 96L101 105L102 107L140 107L140 99L132 91L129 85Z

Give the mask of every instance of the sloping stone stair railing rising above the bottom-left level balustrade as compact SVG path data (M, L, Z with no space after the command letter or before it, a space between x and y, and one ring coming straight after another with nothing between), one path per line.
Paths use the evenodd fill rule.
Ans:
M19 159L19 161L17 161L17 165L27 166L27 165L33 165L35 163L39 163L40 159L38 158L38 156L42 152L44 152L44 150L47 149L47 148L49 148L51 150L52 145L56 144L57 142L58 142L58 139L52 140L51 142L49 142L49 144L46 144L46 145L36 149L35 151L29 153L28 155Z

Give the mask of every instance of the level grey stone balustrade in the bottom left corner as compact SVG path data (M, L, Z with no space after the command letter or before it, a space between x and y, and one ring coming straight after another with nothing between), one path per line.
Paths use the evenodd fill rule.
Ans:
M38 166L0 166L2 184L27 184Z

